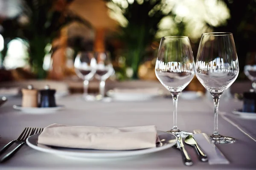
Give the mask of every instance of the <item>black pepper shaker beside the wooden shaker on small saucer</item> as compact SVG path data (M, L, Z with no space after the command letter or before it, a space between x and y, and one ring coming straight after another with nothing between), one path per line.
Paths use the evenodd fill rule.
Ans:
M56 107L55 103L55 92L56 90L50 89L49 85L44 87L44 90L40 90L41 100L40 100L40 107L41 108L51 108Z

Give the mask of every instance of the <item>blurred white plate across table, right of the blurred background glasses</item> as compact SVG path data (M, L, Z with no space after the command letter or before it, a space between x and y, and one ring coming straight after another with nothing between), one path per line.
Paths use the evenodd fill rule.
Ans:
M122 93L110 90L107 91L107 95L118 101L144 101L160 96L161 91L157 93Z

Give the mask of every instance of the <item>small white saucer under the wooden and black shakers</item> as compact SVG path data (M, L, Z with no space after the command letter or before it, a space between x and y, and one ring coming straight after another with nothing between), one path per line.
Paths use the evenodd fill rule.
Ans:
M51 108L26 108L26 107L13 105L13 108L16 109L16 110L20 110L24 113L47 114L47 113L54 113L58 110L63 109L64 105L58 105L57 107L51 107Z

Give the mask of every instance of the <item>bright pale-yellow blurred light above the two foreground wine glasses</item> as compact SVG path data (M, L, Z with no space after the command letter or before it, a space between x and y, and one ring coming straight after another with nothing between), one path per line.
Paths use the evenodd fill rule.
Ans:
M230 11L222 0L166 0L166 4L172 7L171 10L175 17L168 20L164 17L160 21L157 38L175 35L178 32L177 28L166 26L173 24L173 21L175 23L182 21L185 23L184 34L196 40L201 37L202 33L212 31L207 24L214 27L221 26L230 18Z

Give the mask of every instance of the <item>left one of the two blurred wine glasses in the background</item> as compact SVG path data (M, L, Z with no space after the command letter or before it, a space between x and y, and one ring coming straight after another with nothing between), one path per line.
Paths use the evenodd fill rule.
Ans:
M89 81L96 73L96 59L94 58L94 53L88 51L79 52L76 56L74 66L78 77L84 80L83 98L87 101L94 100L94 97L88 94Z

